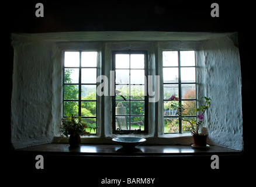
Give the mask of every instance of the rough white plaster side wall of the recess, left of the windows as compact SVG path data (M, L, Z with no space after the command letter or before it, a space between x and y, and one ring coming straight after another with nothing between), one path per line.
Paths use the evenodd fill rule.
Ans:
M49 143L56 135L61 101L53 43L12 35L14 49L11 130L14 148ZM57 84L58 83L58 84ZM55 99L55 101L54 101ZM56 116L57 115L57 116Z

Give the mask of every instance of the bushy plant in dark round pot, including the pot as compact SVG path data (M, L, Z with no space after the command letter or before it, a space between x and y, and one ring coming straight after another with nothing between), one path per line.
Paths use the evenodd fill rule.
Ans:
M81 116L75 117L70 115L61 119L62 124L60 125L61 133L68 137L68 143L70 147L78 147L81 143L80 135L90 135L87 131L89 129L96 129L96 127L89 127L86 123L82 122Z

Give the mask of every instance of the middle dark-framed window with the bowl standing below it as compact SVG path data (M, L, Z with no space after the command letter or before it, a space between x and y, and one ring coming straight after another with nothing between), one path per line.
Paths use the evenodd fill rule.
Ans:
M147 51L113 51L113 133L147 132Z

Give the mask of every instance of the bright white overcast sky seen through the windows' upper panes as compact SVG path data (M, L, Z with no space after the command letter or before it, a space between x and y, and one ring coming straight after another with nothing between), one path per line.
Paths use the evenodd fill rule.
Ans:
M130 56L130 68L144 68L144 54L132 54ZM79 67L79 52L65 52L64 57L65 67ZM163 66L168 67L163 70L164 81L174 81L178 78L178 52L164 51ZM81 53L82 67L96 67L97 52L82 52ZM195 65L195 51L181 51L181 66ZM116 54L116 68L129 68L129 54ZM144 84L144 75L141 75L141 70L131 70L131 83ZM78 69L74 68L71 74L73 83L78 83ZM123 83L128 83L129 70L116 71L117 81L122 79ZM195 81L195 68L181 68L182 81ZM82 83L96 83L96 68L82 69ZM118 83L118 82L116 82ZM120 83L120 82L119 82Z

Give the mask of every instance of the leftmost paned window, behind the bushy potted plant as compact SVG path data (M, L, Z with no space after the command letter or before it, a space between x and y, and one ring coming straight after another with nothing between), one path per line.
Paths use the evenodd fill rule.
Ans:
M91 127L97 126L97 61L96 51L64 52L63 117L81 116Z

